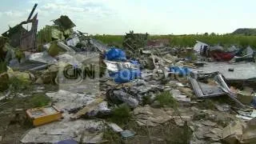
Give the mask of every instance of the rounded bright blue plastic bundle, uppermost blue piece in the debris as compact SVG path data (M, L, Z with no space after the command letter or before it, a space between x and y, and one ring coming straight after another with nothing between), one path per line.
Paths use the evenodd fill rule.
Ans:
M112 48L106 52L106 59L109 61L125 61L126 53L120 49Z

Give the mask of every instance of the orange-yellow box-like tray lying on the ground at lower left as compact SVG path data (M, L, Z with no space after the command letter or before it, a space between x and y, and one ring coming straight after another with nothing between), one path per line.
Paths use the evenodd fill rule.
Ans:
M26 114L32 120L34 126L58 121L62 118L62 113L55 106L44 106L26 110Z

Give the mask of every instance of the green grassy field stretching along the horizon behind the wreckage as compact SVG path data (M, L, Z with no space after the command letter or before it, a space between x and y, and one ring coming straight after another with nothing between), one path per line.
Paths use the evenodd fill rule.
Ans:
M94 35L94 38L110 45L122 47L123 35ZM149 39L167 38L170 46L192 47L196 41L206 42L210 45L222 44L223 46L252 46L256 48L256 36L245 35L150 35Z

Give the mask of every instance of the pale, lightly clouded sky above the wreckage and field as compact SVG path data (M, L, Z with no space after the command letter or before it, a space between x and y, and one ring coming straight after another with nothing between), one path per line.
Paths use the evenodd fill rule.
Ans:
M38 30L61 15L89 34L226 34L256 27L255 0L2 0L0 34L25 21L34 3Z

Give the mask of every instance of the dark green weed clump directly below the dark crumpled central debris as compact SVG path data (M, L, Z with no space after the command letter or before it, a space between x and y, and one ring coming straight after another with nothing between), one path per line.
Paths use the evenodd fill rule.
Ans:
M130 107L127 104L123 104L114 108L110 120L117 124L124 124L129 122L131 118Z

